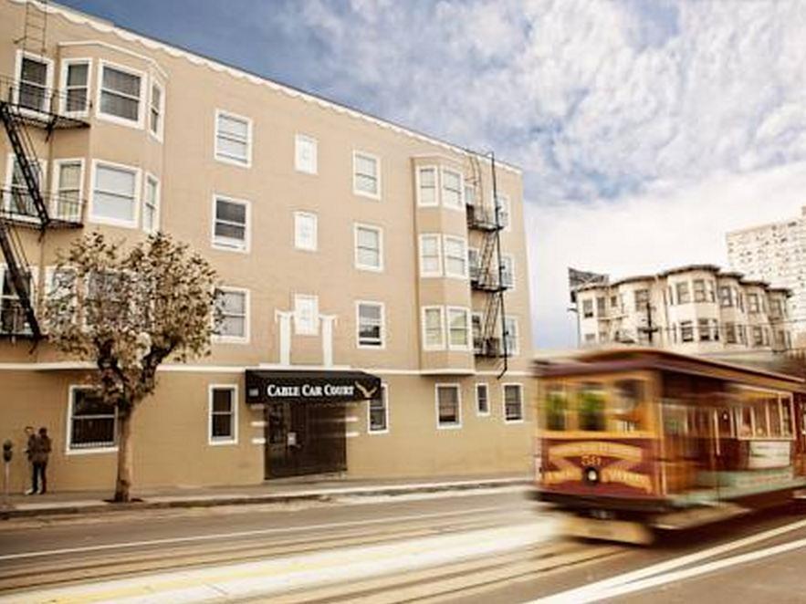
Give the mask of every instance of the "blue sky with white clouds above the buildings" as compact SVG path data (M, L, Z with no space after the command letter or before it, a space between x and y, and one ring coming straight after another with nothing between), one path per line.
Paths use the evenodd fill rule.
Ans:
M62 0L523 167L535 343L566 267L727 263L806 205L806 2Z

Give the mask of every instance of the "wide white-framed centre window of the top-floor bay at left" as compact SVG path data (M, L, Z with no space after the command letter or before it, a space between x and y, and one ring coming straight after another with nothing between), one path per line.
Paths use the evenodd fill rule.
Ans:
M96 115L100 120L142 128L145 75L136 69L99 61Z

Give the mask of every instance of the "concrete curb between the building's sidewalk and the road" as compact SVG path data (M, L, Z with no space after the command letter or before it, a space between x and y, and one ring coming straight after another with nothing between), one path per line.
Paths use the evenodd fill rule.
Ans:
M293 502L318 501L330 502L335 497L378 497L399 496L448 491L471 491L477 489L495 489L508 486L531 484L527 478L503 478L479 481L457 481L435 484L393 484L388 486L368 485L324 488L318 490L300 490L289 493L267 493L262 495L208 495L153 496L152 499L131 502L129 504L113 504L106 501L90 504L70 505L57 504L37 508L11 508L0 510L0 520L12 518L31 518L51 515L89 515L98 513L131 512L137 510L159 510L183 507L214 507L217 505L254 505L254 504L288 504Z

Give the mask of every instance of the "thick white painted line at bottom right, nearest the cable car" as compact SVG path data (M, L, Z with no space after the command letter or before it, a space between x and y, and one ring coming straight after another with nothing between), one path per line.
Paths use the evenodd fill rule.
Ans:
M537 599L534 600L534 602L531 604L595 602L597 599L602 598L601 595L602 591L606 589L617 588L627 583L632 583L634 581L652 577L654 575L659 575L660 573L664 573L669 570L674 570L675 568L685 567L688 566L689 564L694 564L695 562L699 562L700 560L704 560L708 557L715 557L719 556L720 554L725 554L729 551L733 551L734 549L739 549L741 547L748 547L755 543L759 543L759 541L766 541L767 539L785 535L786 533L790 533L791 531L795 531L804 527L806 527L806 520L799 520L789 525L778 526L777 528L769 529L768 531L764 531L763 533L758 533L756 535L751 535L738 539L738 541L729 541L728 543L722 544L721 546L709 547L708 549L703 549L701 551L695 552L694 554L688 554L687 556L683 557L676 557L671 560L666 560L665 562L654 564L653 566L650 567L639 568L638 570L633 570L633 572L625 573L617 577L606 578L603 579L602 581L586 585L583 588L570 589L568 591L563 591L561 593L547 596L546 598Z

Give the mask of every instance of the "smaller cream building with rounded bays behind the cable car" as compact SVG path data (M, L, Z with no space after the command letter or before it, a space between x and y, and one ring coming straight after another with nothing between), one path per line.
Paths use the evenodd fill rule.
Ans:
M790 291L713 265L679 266L576 289L581 345L686 354L791 349Z

